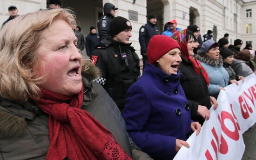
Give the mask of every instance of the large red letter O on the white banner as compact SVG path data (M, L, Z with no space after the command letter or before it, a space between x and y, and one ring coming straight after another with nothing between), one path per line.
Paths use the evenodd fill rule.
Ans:
M220 115L218 115L219 122L221 123L221 126L222 126L222 131L223 131L229 138L231 138L232 140L238 141L238 140L239 140L239 133L238 133L238 128L237 128L237 126L236 126L236 122L235 122L233 116L232 116L229 112L227 112L227 111L222 111L221 117L222 117L222 120L220 119ZM224 123L225 119L229 119L229 120L233 123L233 125L234 125L234 127L235 127L235 131L234 131L234 132L230 131L230 130L226 127L226 125L225 125L225 123Z

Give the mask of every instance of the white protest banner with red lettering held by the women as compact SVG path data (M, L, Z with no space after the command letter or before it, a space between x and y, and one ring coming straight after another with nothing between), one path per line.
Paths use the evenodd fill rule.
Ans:
M210 109L210 119L204 122L200 134L192 134L187 140L190 147L182 147L174 160L242 159L242 134L256 122L256 75L225 90L218 96L218 108Z

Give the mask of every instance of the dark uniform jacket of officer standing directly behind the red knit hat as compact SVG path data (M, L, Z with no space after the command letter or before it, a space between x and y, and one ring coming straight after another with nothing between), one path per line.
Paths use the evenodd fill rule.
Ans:
M148 23L145 26L141 26L139 32L139 42L141 45L141 53L147 52L148 42L151 37L158 34L158 29L155 25Z

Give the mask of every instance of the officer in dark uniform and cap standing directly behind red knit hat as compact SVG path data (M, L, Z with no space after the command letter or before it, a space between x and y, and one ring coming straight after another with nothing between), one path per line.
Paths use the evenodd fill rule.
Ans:
M145 66L145 62L148 60L148 57L147 57L148 42L151 37L158 34L158 29L155 26L156 21L157 21L157 16L155 14L151 14L148 17L148 23L145 26L141 26L140 28L139 42L141 45L143 68Z

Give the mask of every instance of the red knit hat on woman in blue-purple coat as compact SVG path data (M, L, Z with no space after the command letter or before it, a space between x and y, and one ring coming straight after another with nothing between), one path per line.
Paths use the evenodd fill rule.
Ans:
M165 55L168 51L175 48L181 50L180 45L173 38L163 35L153 36L148 43L148 63L154 64L155 61Z

